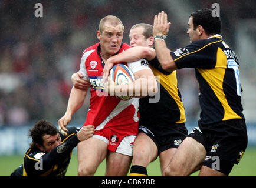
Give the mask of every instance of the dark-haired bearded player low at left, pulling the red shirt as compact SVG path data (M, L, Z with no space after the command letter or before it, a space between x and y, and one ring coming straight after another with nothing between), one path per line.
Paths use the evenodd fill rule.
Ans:
M29 130L32 143L24 163L11 176L65 176L72 150L93 133L94 127L89 125L82 129L69 127L67 136L63 136L47 120L38 121Z

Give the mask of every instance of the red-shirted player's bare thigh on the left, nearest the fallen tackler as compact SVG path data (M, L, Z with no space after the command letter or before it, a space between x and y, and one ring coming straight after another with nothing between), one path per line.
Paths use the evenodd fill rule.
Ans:
M91 137L77 145L78 171L96 171L99 164L107 156L107 143Z

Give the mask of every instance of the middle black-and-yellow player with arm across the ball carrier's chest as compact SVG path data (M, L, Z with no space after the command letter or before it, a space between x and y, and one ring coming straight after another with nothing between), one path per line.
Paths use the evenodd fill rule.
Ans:
M134 142L130 176L147 176L146 167L157 156L163 174L163 169L168 166L173 153L188 134L176 71L166 72L160 66L152 48L154 46L152 31L153 26L150 24L134 25L129 35L130 45L133 48L109 58L103 70L103 75L107 76L114 63L146 58L154 75L160 78L157 80L160 86L157 93L159 102L150 102L152 99L150 96L139 100L139 134Z

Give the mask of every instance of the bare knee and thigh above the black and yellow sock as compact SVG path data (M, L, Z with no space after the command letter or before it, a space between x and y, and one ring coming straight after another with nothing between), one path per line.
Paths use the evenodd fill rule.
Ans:
M147 167L156 159L158 149L153 140L145 133L140 132L133 145L133 165Z

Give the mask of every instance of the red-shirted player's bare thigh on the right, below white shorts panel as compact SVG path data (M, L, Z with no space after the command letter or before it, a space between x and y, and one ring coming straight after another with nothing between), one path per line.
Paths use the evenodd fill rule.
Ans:
M106 176L127 176L132 157L122 153L110 152L106 157Z

